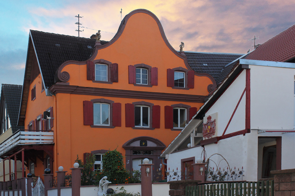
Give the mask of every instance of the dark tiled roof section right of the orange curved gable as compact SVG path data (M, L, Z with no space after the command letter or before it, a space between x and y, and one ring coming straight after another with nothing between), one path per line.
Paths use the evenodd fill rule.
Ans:
M194 71L198 73L209 73L218 84L219 82L217 80L224 66L241 57L243 54L185 52L185 55Z

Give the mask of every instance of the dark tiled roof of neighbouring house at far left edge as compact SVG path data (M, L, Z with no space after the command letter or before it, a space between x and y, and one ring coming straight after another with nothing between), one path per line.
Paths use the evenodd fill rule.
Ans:
M19 129L24 129L23 126L17 126L20 99L22 96L22 85L2 84L1 96L4 96L8 115L12 127L12 133ZM3 100L3 99L1 99Z

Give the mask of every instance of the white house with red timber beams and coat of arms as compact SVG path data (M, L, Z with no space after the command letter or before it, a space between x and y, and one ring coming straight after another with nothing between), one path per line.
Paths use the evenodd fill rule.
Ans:
M209 170L243 170L239 180L246 181L294 168L295 63L237 59L226 70L228 76L162 153L167 168L181 168L186 178L198 158L210 159Z

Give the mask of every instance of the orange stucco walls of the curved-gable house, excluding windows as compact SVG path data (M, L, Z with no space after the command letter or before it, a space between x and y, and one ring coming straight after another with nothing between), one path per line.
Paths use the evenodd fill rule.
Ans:
M207 96L207 87L214 84L212 78L206 75L194 75L194 88L172 88L167 86L167 69L182 67L191 70L186 62L186 57L175 51L168 43L163 29L158 19L148 11L135 11L128 15L125 24L121 24L116 36L107 44L99 43L94 48L89 61L104 59L111 63L118 64L118 82L97 83L87 80L87 63L85 62L65 62L60 66L58 72L67 72L69 79L66 82L55 83L49 89L55 93L53 96L46 96L45 91L41 92L42 75L39 74L30 84L30 89L36 85L36 98L31 100L31 91L27 100L25 116L25 127L36 117L53 107L53 127L54 133L54 159L53 171L59 166L69 171L77 158L83 160L83 153L90 153L94 150L114 150L117 149L125 156L124 143L136 137L148 136L160 140L168 146L171 141L180 133L180 130L165 128L166 105L186 104L199 109L204 101L193 99L171 100L161 97L165 93L175 96ZM144 63L151 67L158 68L158 85L136 86L128 82L128 66ZM57 91L62 87L63 91ZM81 87L81 91L66 91ZM49 89L47 89L49 91ZM117 95L90 93L95 89L109 89L118 92ZM121 91L129 92L125 96ZM160 93L159 97L137 98L141 92ZM48 93L47 93L48 94ZM132 97L132 95L134 95ZM83 101L93 99L107 99L114 103L121 103L121 126L112 128L91 127L83 123ZM145 101L160 106L160 128L154 129L134 129L126 127L125 104ZM127 116L128 118L128 116ZM44 157L47 153L44 152ZM125 164L131 164L132 160L124 160ZM127 165L126 165L127 166ZM158 167L155 166L155 167ZM42 175L44 172L43 162L36 159L35 174ZM53 172L55 174L55 172Z

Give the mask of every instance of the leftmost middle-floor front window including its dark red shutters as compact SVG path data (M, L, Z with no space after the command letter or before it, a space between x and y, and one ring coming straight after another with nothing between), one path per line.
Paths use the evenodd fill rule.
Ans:
M120 127L121 103L104 98L83 101L83 123L92 128Z

